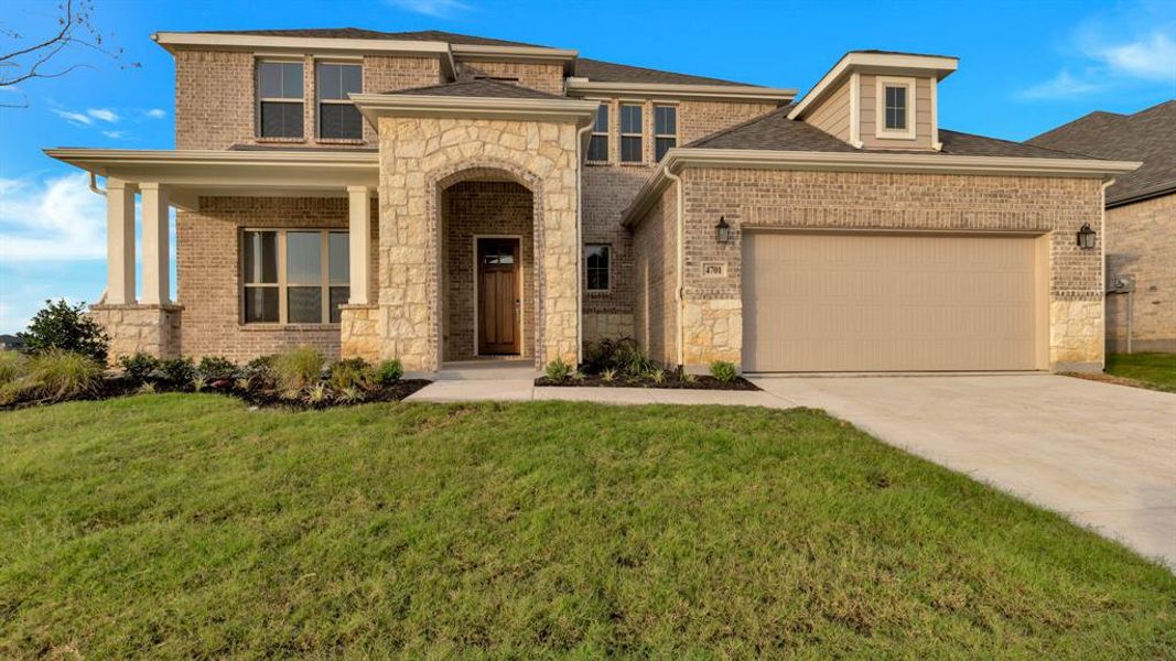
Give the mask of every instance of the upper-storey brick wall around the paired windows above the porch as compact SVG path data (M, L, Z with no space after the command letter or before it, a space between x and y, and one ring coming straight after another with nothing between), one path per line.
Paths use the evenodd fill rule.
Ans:
M259 139L256 129L256 58L253 53L181 49L175 53L175 148L227 149L233 145L312 143L374 146L367 123L363 140L319 140L314 58L302 58L301 139ZM366 55L363 91L390 92L441 82L437 58Z

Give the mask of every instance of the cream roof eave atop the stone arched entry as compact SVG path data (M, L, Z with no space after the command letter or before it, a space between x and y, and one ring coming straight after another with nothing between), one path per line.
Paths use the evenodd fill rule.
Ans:
M373 125L381 116L508 119L567 121L587 126L599 104L574 99L510 99L432 94L352 94L352 101Z

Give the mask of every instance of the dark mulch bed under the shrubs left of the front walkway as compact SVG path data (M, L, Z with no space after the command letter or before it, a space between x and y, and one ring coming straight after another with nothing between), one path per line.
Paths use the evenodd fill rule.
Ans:
M368 390L363 393L362 400L355 401L342 401L336 398L323 400L321 402L309 403L302 400L288 400L281 396L278 390L239 390L232 379L220 379L211 381L207 387L205 387L202 393L213 393L218 395L227 395L245 401L250 406L256 406L259 408L290 408L298 410L305 409L325 409L334 408L338 406L356 406L361 403L370 402L389 402L400 401L408 395L420 390L425 386L428 386L432 381L427 379L405 379L396 381L390 386L381 386L374 390ZM28 408L33 406L45 406L51 403L60 403L64 401L98 401L108 400L113 398L121 398L126 395L133 395L140 392L140 386L138 383L132 383L121 376L107 376L102 379L96 388L81 393L78 396L68 398L65 400L56 399L39 399L39 400L25 400L5 406L0 406L0 410L15 410L19 408ZM155 383L156 393L193 393L193 388L176 388L168 386L166 383Z

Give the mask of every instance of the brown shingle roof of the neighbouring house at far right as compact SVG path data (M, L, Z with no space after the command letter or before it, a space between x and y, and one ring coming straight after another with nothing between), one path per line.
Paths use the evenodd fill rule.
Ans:
M1107 205L1123 205L1176 192L1176 100L1134 115L1094 112L1027 141L1029 145L1143 161L1107 189Z

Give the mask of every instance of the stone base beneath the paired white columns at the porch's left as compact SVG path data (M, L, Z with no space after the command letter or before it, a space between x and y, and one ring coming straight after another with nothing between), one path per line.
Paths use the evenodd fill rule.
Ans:
M106 305L89 306L89 314L111 339L107 363L136 353L155 358L179 358L180 316L183 308L172 305Z

